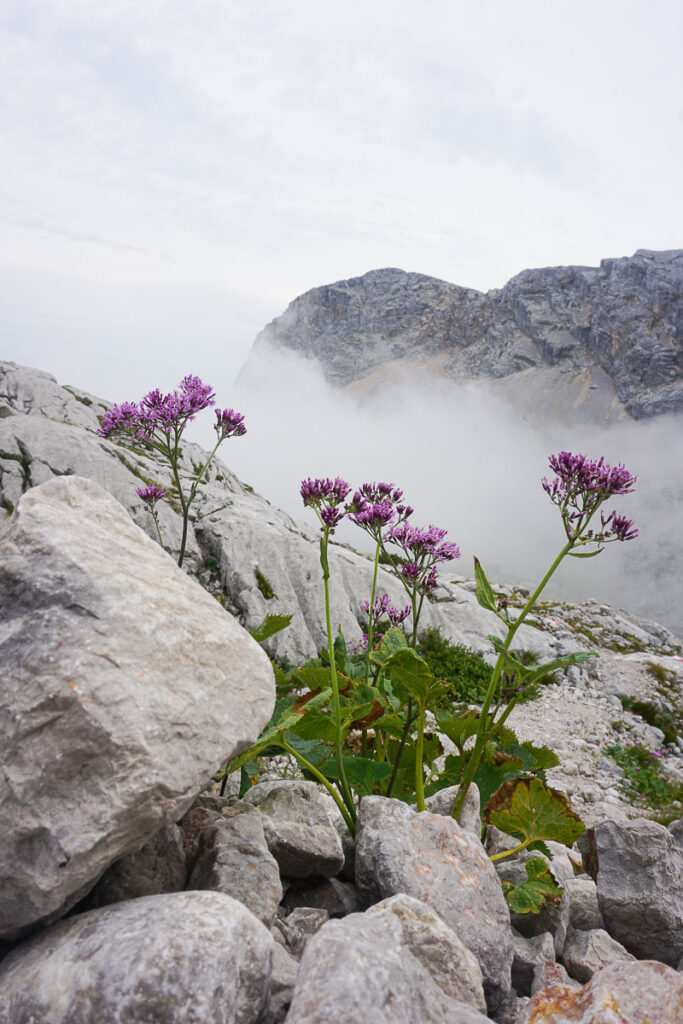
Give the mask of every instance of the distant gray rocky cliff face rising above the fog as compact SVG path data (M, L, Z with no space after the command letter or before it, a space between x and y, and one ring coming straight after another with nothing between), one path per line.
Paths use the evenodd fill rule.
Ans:
M299 296L258 336L339 386L486 378L519 407L611 422L683 411L683 251L524 270L487 293L403 270Z

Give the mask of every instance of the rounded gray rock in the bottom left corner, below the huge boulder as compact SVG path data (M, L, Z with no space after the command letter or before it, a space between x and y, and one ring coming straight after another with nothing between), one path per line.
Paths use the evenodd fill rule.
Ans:
M0 1024L257 1024L272 955L263 925L222 893L116 903L0 964Z

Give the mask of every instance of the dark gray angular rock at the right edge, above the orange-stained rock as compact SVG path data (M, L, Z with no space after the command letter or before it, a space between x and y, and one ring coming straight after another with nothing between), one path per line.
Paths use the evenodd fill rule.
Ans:
M605 928L639 958L683 954L683 849L656 821L602 821L579 840Z

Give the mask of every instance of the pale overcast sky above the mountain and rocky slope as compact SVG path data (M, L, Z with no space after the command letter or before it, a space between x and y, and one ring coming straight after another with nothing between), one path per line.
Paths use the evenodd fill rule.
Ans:
M229 403L296 295L683 244L680 0L0 0L0 355Z

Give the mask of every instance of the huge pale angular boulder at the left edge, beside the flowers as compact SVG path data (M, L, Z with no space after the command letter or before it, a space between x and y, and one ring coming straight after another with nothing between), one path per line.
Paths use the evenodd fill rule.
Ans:
M258 736L260 647L97 484L0 535L0 938L53 921Z

